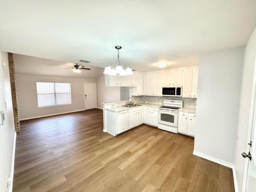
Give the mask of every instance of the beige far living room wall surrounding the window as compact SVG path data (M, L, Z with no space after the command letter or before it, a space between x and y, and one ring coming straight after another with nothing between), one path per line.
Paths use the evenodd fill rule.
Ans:
M15 61L14 61L15 64ZM15 74L20 120L51 114L84 110L84 83L96 79ZM71 105L37 108L36 82L68 82L71 84Z

